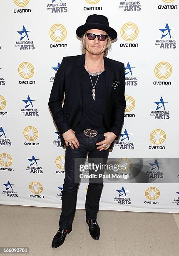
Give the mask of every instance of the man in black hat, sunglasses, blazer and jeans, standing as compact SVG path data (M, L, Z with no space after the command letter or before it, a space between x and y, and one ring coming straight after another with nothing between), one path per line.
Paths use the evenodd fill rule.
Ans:
M107 17L90 15L76 33L82 38L84 54L62 59L49 99L52 117L66 145L60 228L53 238L52 248L61 246L72 231L80 183L79 165L84 164L87 152L89 163L107 163L109 149L121 133L126 107L124 64L105 57L111 40L117 38ZM90 235L97 240L100 234L97 212L104 184L99 176L89 180L86 222Z

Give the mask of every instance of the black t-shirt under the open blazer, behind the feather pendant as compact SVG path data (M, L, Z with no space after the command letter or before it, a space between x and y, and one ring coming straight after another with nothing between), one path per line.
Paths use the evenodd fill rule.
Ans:
M98 133L105 133L107 129L103 125L103 104L105 96L105 71L103 71L97 80L97 76L91 76L93 86L96 81L97 84L94 87L95 89L95 100L92 97L92 83L89 73L84 70L83 76L83 97L82 97L82 117L80 123L77 124L75 128L75 133L83 131L85 129L93 129L98 131Z

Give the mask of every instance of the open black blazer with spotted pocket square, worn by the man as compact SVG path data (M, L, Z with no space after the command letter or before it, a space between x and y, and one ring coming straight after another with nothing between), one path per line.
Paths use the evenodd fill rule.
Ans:
M85 67L85 54L68 56L55 74L49 98L49 108L57 125L62 144L65 145L63 133L74 130L82 115L82 81ZM104 57L106 76L105 101L103 106L103 125L112 131L118 139L124 122L125 78L124 64ZM65 100L64 100L65 92ZM63 107L62 101L64 100ZM112 148L114 141L109 148Z

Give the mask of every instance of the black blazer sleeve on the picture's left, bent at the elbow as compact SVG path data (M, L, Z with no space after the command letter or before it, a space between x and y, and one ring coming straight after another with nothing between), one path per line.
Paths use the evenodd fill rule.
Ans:
M55 79L53 82L52 90L50 93L50 98L48 106L52 113L53 120L57 125L59 133L63 134L69 129L71 129L67 117L64 114L62 108L62 101L65 92L65 59L62 59L60 67L58 68Z

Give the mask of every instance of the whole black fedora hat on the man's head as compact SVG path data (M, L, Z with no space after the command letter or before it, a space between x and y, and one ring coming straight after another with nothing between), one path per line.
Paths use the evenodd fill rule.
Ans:
M117 32L114 30L114 28L109 27L108 19L104 15L92 14L88 16L86 23L77 28L76 34L81 38L89 29L103 30L112 40L117 38Z

